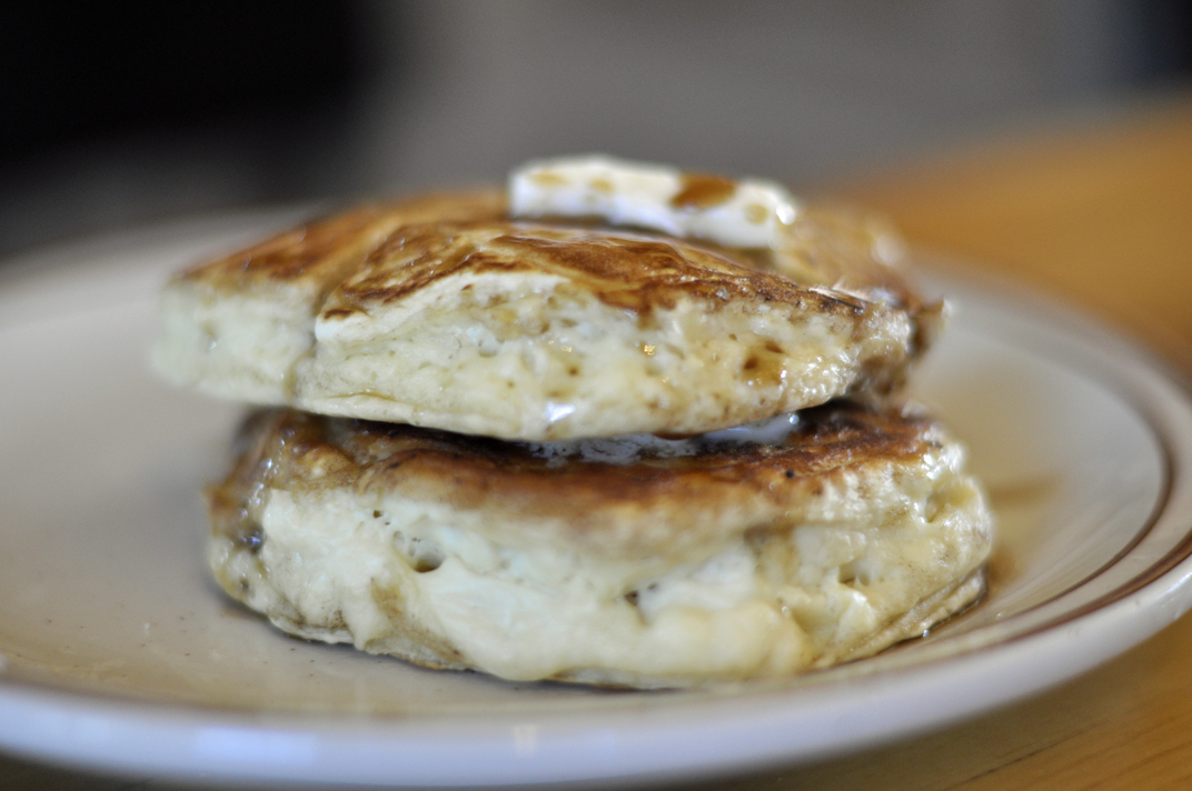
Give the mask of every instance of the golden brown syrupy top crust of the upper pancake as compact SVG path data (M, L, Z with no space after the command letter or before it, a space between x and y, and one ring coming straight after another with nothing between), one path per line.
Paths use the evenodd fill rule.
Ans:
M675 200L703 205L725 185L732 182L689 176ZM653 297L672 299L679 291L720 300L730 294L789 299L791 282L839 288L836 300L852 307L858 295L914 312L923 307L893 266L896 237L871 216L839 207L807 206L787 243L774 251L633 233L576 218L507 222L507 211L504 194L495 189L356 206L192 267L176 280L224 292L292 284L323 294L348 280L347 300L390 301L460 267L541 268L578 276L602 298L635 311L648 310ZM467 248L464 237L477 233L489 237L491 250ZM519 262L519 256L524 259ZM409 272L393 272L398 266Z

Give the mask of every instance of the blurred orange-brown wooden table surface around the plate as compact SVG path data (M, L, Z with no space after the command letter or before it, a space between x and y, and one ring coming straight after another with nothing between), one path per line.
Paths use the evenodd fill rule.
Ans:
M1192 94L836 185L833 192L881 208L913 244L1081 305L1192 373ZM0 790L157 785L0 756ZM1075 681L961 725L707 785L1185 787L1192 787L1192 616Z

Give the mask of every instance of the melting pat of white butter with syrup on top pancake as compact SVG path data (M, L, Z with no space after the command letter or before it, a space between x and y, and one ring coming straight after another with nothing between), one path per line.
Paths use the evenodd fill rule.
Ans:
M781 247L797 213L795 199L772 181L728 181L595 155L517 168L509 176L509 205L514 217L600 217L725 247L771 249Z

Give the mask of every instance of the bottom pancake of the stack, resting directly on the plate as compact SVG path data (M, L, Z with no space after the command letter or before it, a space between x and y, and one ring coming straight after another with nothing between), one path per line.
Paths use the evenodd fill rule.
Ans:
M827 405L764 432L513 443L259 412L209 492L209 560L300 637L638 687L857 659L981 594L992 517L937 423Z

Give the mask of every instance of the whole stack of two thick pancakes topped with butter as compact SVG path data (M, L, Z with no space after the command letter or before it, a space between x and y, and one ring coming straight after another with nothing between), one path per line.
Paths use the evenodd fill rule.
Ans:
M983 591L942 324L881 224L606 157L174 278L155 363L257 405L209 562L285 631L507 679L780 677Z

